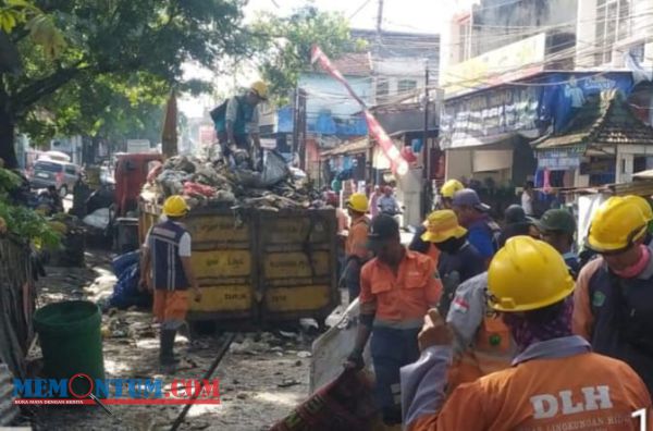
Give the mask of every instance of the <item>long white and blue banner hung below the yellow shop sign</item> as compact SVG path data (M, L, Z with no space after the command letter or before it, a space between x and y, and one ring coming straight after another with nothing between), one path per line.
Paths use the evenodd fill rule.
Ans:
M588 97L611 89L628 96L632 87L629 72L552 72L518 85L445 100L440 119L441 147L482 146L516 134L529 139L560 134Z

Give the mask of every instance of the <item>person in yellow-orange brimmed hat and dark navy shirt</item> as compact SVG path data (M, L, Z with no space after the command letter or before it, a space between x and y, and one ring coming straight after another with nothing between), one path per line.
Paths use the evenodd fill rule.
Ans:
M422 241L432 243L441 251L438 272L444 291L438 309L446 316L458 285L484 272L485 261L467 241L467 230L458 224L454 211L433 211L428 222Z

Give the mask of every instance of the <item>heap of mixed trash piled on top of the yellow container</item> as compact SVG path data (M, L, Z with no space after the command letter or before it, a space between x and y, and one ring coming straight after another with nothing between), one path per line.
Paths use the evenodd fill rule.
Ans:
M306 174L291 170L280 153L266 150L260 171L251 170L243 155L237 160L239 163L230 164L222 159L170 158L150 172L141 198L161 202L183 195L190 208L229 206L270 211L321 205Z

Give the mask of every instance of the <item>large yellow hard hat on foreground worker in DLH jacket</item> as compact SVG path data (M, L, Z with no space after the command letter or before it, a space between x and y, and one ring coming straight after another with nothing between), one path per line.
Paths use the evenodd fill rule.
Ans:
M497 311L544 308L569 296L574 286L563 256L530 236L508 239L488 270L490 305Z

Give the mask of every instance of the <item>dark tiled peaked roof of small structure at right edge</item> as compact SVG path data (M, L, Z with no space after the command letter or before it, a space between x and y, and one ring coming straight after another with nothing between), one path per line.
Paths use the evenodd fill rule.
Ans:
M564 131L533 143L537 149L586 145L653 145L653 128L638 119L617 91L589 100Z

